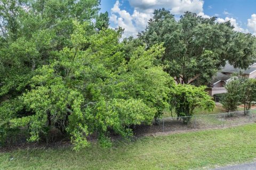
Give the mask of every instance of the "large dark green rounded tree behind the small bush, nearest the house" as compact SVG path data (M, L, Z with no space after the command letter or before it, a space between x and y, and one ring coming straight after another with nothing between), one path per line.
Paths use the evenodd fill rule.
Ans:
M177 83L205 84L228 61L246 69L255 59L255 37L236 32L230 22L217 23L186 12L175 20L164 8L155 10L139 38L151 47L164 43L165 71Z

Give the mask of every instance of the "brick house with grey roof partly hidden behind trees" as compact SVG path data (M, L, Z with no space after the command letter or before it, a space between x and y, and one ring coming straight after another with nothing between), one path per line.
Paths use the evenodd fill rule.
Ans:
M223 69L217 73L215 77L212 78L212 81L206 89L209 92L209 95L213 96L214 94L222 94L227 92L224 86L230 80L231 74L241 73L243 76L248 78L256 78L256 63L251 65L249 69L235 69L232 65L227 63Z

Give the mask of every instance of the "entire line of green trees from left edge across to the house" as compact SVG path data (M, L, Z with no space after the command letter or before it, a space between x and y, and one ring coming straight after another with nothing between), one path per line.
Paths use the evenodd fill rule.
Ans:
M213 109L201 85L226 62L245 69L255 60L255 37L230 22L155 10L138 38L121 41L123 29L110 29L99 5L0 2L1 141L21 127L31 142L57 128L75 149L96 132L109 146L110 131L127 138L131 125L157 122L166 108L178 116Z

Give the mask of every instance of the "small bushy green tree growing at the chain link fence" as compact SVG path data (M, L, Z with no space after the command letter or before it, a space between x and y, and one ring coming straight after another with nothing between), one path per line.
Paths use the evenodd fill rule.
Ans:
M182 117L184 123L190 121L196 107L212 111L215 106L212 97L205 92L205 86L193 86L190 84L178 84L174 86L171 94L171 106L175 108L178 117Z

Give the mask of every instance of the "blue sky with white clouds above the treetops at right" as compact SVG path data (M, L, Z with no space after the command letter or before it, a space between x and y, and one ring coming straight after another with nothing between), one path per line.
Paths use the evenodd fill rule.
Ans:
M109 13L110 27L125 29L123 38L136 37L154 10L163 7L177 20L185 11L204 18L217 16L217 22L230 21L236 31L256 36L256 0L101 0L101 12Z

